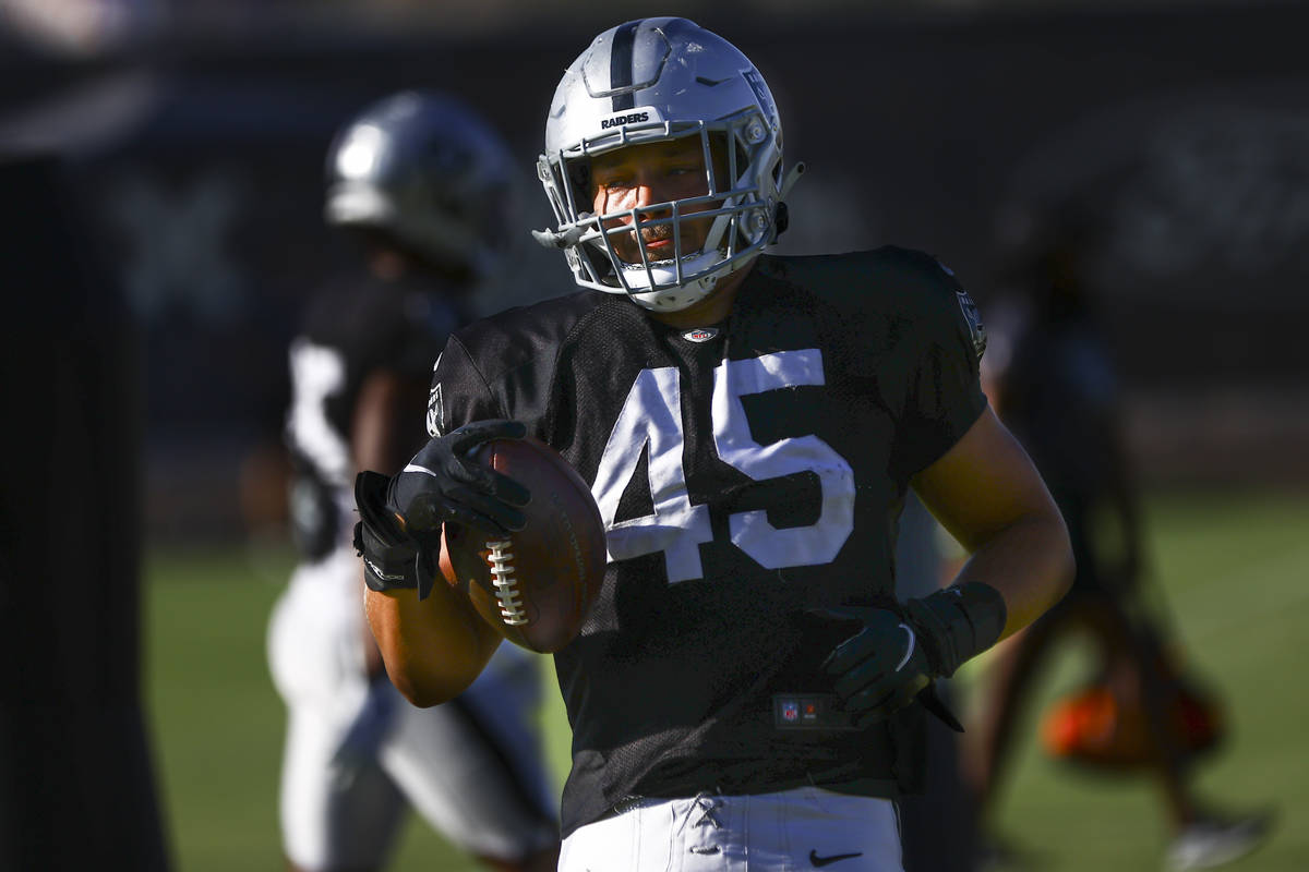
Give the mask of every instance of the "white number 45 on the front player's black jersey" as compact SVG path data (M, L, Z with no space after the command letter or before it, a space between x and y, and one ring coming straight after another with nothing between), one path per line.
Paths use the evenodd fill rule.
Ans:
M822 485L822 510L812 526L778 529L763 510L729 516L732 544L767 569L826 563L853 529L855 475L831 446L816 435L766 446L750 438L741 397L804 384L823 384L822 353L816 348L723 361L713 370L713 446L719 458L757 481L808 471ZM669 582L702 578L699 545L713 539L708 506L692 505L686 489L685 442L677 369L641 370L609 434L592 485L609 531L609 560L662 552ZM618 501L647 447L654 512L614 523Z

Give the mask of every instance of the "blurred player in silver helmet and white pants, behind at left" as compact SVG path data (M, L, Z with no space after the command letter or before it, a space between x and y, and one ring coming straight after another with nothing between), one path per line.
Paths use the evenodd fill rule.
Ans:
M404 92L338 133L327 175L326 218L360 244L368 277L325 289L291 346L285 435L302 561L268 633L288 710L288 867L378 869L411 807L490 868L552 869L538 659L505 646L465 694L415 709L363 620L350 536L355 471L398 472L425 441L432 361L508 260L512 159L467 107Z

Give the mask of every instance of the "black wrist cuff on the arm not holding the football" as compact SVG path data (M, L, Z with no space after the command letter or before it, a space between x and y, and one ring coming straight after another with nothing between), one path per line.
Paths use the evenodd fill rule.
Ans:
M910 600L905 609L919 630L932 672L946 679L996 643L1008 616L1000 591L982 582L946 587Z

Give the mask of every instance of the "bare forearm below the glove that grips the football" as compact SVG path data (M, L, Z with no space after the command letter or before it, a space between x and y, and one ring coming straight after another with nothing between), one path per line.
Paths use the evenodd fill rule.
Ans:
M416 706L435 706L462 693L500 642L471 604L442 583L424 600L412 590L368 590L364 596L386 673Z

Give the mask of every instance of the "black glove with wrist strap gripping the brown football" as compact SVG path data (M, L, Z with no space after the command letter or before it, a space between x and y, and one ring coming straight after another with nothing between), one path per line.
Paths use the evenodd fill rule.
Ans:
M425 599L437 574L441 524L448 520L495 536L522 529L530 494L471 459L491 439L521 439L518 421L478 421L429 441L402 472L364 471L355 478L355 550L370 590L418 588Z

